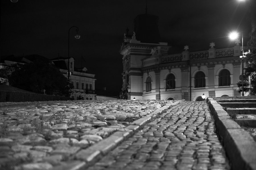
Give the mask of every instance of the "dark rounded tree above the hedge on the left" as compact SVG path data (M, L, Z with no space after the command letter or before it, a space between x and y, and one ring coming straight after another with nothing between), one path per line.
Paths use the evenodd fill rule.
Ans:
M34 93L42 93L45 89L46 94L58 96L70 96L73 88L54 64L42 60L18 64L9 76L9 83L13 87Z

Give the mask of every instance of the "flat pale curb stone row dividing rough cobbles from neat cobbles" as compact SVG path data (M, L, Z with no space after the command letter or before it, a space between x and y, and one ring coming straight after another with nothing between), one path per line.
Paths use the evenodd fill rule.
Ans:
M171 104L166 104L165 106L158 108L151 114L147 115L146 117L142 117L136 121L133 121L131 125L127 126L123 129L123 131L117 131L110 135L110 137L105 138L98 143L94 144L93 146L90 146L89 148L80 150L76 155L75 159L81 160L81 164L83 164L82 167L77 166L72 167L69 170L78 170L87 166L90 166L94 164L97 160L102 158L102 156L105 156L108 152L113 150L119 143L121 143L126 138L133 135L136 131L141 129L146 123L152 121L156 117L158 117L160 114L166 112L168 109L170 109L172 106L175 106L184 100L178 100ZM59 169L60 167L56 167L55 169ZM65 167L65 169L67 169Z

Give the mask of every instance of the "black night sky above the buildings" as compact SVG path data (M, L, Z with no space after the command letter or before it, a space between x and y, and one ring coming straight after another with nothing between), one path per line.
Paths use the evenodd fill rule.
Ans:
M238 0L148 0L148 14L159 16L162 42L170 53L234 46L228 39L233 30L243 31L244 43L251 29L250 1ZM145 13L146 0L1 0L1 55L38 54L49 59L68 55L76 67L86 67L96 76L96 90L106 87L118 95L122 87L120 45L126 28L133 32L133 20ZM81 56L84 60L81 59ZM82 62L81 62L82 61Z

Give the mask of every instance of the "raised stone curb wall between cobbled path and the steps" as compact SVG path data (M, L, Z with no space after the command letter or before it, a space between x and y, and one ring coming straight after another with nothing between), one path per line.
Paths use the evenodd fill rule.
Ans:
M208 98L207 102L232 169L256 170L256 142L251 135L231 119L216 100Z

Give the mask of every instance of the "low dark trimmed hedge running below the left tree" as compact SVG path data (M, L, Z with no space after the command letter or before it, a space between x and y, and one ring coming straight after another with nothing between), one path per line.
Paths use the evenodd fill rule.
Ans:
M13 91L0 91L0 102L34 102L34 101L53 101L53 100L72 100L65 96L43 95L37 93L24 93Z

